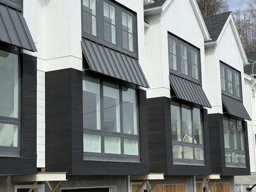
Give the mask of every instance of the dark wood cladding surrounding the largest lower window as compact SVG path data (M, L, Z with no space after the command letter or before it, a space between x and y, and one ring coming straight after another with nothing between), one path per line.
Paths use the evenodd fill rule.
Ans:
M74 69L46 73L46 169L68 174L148 174L146 91L138 90L140 163L84 161L82 72Z

